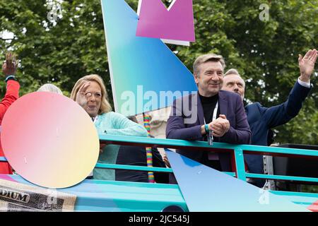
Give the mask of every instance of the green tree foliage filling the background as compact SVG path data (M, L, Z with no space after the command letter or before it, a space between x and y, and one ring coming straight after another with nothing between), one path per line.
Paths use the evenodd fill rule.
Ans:
M126 1L136 10L138 0ZM51 3L61 6L53 23L47 18ZM264 3L270 7L268 21L259 20ZM228 69L238 69L247 80L246 102L270 107L287 99L299 76L298 54L318 48L317 15L318 0L194 0L196 42L169 47L191 71L200 54L222 54ZM69 95L78 78L97 73L112 100L100 0L0 0L1 31L13 33L11 40L0 38L0 59L7 50L18 54L21 95L48 82ZM298 117L276 128L276 142L318 145L317 73L311 82Z

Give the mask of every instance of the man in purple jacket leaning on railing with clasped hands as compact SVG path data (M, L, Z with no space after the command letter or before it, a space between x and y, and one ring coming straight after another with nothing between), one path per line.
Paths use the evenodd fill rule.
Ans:
M194 61L198 92L175 100L167 121L166 136L187 141L249 144L252 132L240 95L220 90L225 62L222 56L206 54ZM211 139L210 139L211 140ZM230 153L177 150L177 153L222 171L231 171Z

